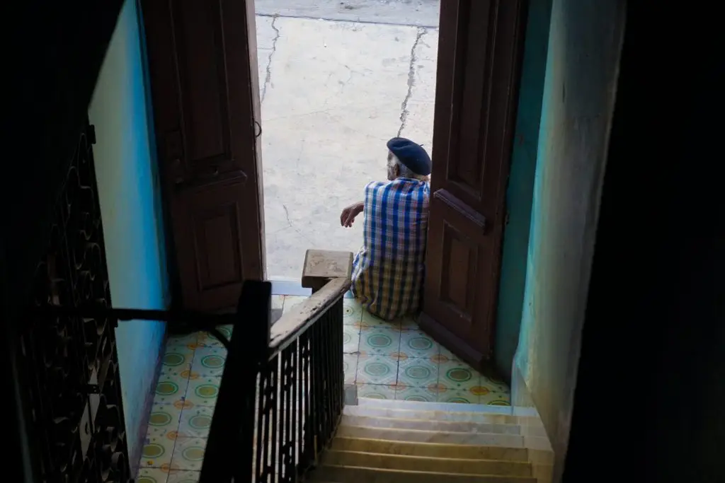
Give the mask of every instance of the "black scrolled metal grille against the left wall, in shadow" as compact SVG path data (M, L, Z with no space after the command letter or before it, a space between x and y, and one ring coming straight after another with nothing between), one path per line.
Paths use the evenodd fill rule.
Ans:
M38 261L33 305L111 305L92 144L78 147L54 209L46 254ZM130 479L115 321L29 316L21 335L31 430L45 482Z

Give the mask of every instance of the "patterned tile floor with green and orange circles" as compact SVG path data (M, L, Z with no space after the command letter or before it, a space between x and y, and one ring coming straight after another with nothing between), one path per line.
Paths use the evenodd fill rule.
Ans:
M305 298L273 295L272 308L285 312ZM349 296L344 310L345 380L358 397L509 405L504 383L458 361L412 319L385 322ZM170 337L137 483L198 481L225 356L205 332Z

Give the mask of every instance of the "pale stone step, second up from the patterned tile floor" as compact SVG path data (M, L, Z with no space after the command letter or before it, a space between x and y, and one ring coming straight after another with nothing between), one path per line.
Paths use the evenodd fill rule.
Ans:
M463 406L463 405L460 405ZM379 408L377 406L345 406L343 413L349 416L373 416L381 418L423 419L455 421L461 423L517 424L518 418L500 413L467 413L451 411L427 411L421 409Z

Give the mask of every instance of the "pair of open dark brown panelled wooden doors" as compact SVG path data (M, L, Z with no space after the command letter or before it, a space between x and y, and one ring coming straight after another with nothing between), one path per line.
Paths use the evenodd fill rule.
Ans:
M441 1L420 324L479 369L492 356L525 1ZM244 280L265 276L254 1L141 3L183 306L233 307Z

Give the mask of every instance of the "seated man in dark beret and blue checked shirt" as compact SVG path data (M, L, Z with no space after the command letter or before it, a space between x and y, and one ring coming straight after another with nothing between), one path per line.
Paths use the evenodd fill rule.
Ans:
M365 211L352 294L371 314L390 320L418 311L421 303L431 158L405 138L387 146L388 181L365 185L365 201L344 209L340 224L351 227Z

